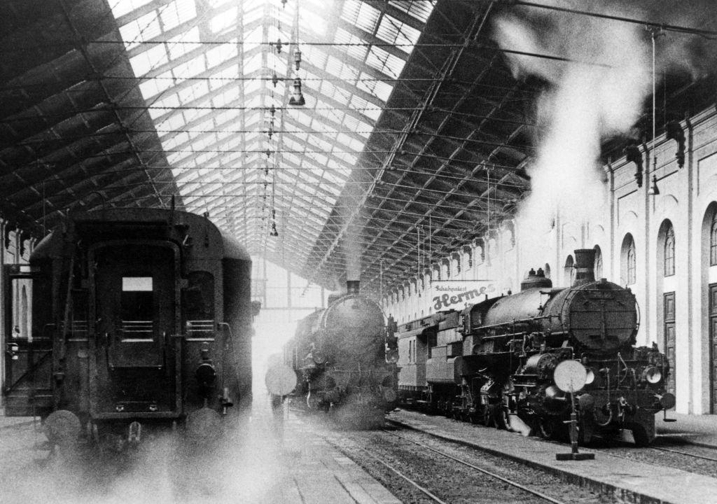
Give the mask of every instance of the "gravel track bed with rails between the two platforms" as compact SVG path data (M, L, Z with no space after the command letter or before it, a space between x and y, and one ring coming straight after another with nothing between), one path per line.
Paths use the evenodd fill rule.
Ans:
M446 442L427 434L410 430L391 429L390 432L339 432L329 436L338 450L356 461L404 503L432 503L406 480L391 472L377 458L418 482L438 498L450 503L537 503L545 502L536 495L514 488L505 482L430 452L424 447L394 436L400 434L435 450L446 452L460 460L498 473L532 490L549 495L564 503L619 503L612 496L597 495L586 488L563 482L554 475L532 469L518 462L503 460L465 445Z

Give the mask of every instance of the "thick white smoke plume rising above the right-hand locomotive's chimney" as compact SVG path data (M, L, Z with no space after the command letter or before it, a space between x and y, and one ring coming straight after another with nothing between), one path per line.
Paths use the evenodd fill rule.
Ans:
M540 3L576 10L586 7L581 1ZM685 3L694 4L695 12L710 2L680 2L680 12L672 16L668 13L677 9L675 2L607 0L599 3L599 12L695 26ZM683 34L669 36L669 43L660 41L658 47L657 77L677 67L695 76L703 73L695 54L705 52L706 45ZM529 168L531 197L518 215L521 229L534 234L527 238L539 240L549 231L556 208L578 224L602 214L606 187L600 146L610 136L635 135L631 128L652 91L651 34L640 24L524 7L500 14L494 37L505 49L570 60L508 55L516 77L536 75L549 83L536 103L540 133L536 160Z

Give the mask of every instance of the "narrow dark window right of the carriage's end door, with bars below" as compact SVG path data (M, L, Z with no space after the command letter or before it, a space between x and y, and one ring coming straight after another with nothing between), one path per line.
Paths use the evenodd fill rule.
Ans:
M184 324L189 338L212 338L214 335L214 276L206 271L187 275L182 292Z

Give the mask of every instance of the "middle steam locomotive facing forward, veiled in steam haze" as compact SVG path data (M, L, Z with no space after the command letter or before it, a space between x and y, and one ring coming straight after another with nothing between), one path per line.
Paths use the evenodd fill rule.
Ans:
M347 282L347 293L300 320L284 346L298 376L294 395L356 427L380 422L398 400L393 328L378 303L359 294L359 282Z

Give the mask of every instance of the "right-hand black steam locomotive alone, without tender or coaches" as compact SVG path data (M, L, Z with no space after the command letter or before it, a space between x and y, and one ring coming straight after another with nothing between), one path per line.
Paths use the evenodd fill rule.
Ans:
M637 444L647 444L655 438L655 413L675 403L665 392L668 361L655 346L634 346L639 313L630 290L595 280L594 250L575 255L571 287L554 289L541 270L531 270L521 293L467 310L464 331L475 344L462 374L475 379L487 369L478 380L484 396L493 391L485 402L553 437L564 432L570 410L553 373L561 361L578 360L588 376L577 394L581 439L630 429Z

